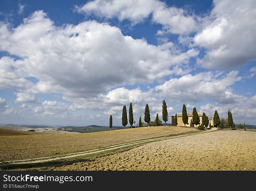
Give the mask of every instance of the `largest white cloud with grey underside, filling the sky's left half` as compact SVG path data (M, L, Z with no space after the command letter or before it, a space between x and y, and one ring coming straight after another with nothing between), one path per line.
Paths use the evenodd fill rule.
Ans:
M172 53L168 47L135 40L117 27L96 21L56 27L41 10L16 28L1 23L0 34L0 49L22 58L2 58L3 73L10 70L15 79L11 87L23 89L16 94L16 102L36 102L36 93L95 97L116 86L153 82L172 74L171 66L181 68L198 54L195 49ZM26 80L28 76L38 82ZM8 85L6 82L4 87Z

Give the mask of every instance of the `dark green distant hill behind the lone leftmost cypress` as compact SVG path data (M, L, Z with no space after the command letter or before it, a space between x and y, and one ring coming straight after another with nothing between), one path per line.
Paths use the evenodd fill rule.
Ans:
M118 129L118 126L113 126L113 128ZM120 126L120 129L124 127ZM78 133L91 133L91 132L99 132L99 131L110 131L109 126L98 126L98 125L88 125L84 127L75 127L75 126L65 126L58 128L58 131L64 130L68 132L78 132Z

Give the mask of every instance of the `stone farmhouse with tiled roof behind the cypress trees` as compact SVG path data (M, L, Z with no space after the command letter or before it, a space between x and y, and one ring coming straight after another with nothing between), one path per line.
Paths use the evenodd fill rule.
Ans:
M203 115L200 114L199 111L197 113L198 113L198 117L200 118L200 123L198 125L200 125L200 124L202 124L202 116ZM186 124L186 126L187 127L195 127L195 125L192 122L193 114L192 113L187 113L187 114L188 114L189 120L188 120L188 123ZM174 120L175 120L175 115L172 116L172 125L173 126L175 125ZM184 126L184 123L182 121L182 114L177 115L177 122L178 122L177 126ZM211 126L214 126L213 117L208 116L208 122L209 122L208 127L210 125L210 122L211 122Z

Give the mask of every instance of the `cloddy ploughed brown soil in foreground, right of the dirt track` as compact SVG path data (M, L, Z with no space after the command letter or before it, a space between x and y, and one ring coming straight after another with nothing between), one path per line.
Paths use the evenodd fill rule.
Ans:
M256 133L214 131L48 170L255 170Z

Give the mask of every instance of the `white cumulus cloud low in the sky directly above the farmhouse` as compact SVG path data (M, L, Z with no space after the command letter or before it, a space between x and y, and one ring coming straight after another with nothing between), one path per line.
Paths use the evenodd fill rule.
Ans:
M219 103L234 103L243 100L230 92L229 86L242 79L238 71L231 71L221 78L215 78L213 72L201 72L173 78L155 87L162 97L168 97L177 102L200 102L205 98L211 98Z

